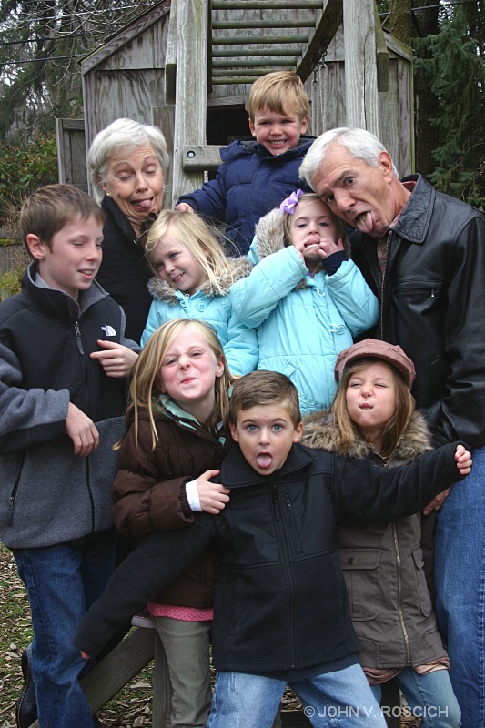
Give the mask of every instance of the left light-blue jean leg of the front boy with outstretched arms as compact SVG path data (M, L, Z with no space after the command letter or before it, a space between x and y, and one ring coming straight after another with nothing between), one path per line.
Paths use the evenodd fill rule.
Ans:
M271 728L286 682L246 672L217 672L207 728Z

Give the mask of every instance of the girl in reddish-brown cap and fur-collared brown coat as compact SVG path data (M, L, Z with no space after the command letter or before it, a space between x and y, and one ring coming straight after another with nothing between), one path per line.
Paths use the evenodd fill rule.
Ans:
M400 347L366 339L338 355L338 391L330 413L308 416L301 440L311 448L395 467L431 449L426 421L414 411L414 365ZM359 659L378 702L394 678L422 728L459 728L449 660L423 570L419 514L396 521L338 524Z

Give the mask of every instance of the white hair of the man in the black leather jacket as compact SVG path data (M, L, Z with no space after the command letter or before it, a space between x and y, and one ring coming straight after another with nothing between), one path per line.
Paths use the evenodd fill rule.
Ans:
M366 129L340 126L337 129L326 131L313 142L299 167L299 177L304 179L312 189L314 189L313 180L328 153L328 148L336 143L345 147L353 157L362 159L369 167L378 167L380 152L387 151L386 147L379 142L378 137ZM396 177L399 177L396 167L392 165L392 168Z

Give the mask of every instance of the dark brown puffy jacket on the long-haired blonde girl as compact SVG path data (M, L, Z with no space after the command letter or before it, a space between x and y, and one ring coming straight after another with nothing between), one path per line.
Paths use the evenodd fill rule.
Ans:
M113 483L113 521L121 533L139 537L153 531L180 529L194 521L185 485L206 470L217 470L230 446L230 434L217 436L196 420L157 413L158 441L152 450L152 433L146 413L139 416L138 442L135 426L126 433L119 451L121 470ZM212 606L214 570L207 549L154 600L163 604Z

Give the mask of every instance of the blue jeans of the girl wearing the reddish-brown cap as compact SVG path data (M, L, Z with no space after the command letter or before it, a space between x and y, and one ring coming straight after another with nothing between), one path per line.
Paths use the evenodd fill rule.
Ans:
M394 680L406 698L411 714L421 719L421 728L460 728L460 708L448 670L419 675L408 668L399 672ZM380 703L380 685L371 690Z

